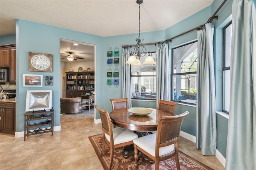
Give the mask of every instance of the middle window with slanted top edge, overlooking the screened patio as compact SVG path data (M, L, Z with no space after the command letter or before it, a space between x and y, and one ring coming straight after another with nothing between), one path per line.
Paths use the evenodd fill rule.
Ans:
M196 105L197 41L172 49L172 100Z

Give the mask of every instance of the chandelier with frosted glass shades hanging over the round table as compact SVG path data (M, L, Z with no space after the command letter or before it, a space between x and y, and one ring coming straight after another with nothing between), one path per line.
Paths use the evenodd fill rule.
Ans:
M139 4L139 36L136 38L137 44L134 47L134 50L131 51L131 55L126 61L126 64L130 65L142 65L140 62L140 57L144 57L145 55L148 55L143 62L143 64L156 64L156 61L154 61L154 58L151 56L150 51L146 50L146 47L142 44L144 41L143 38L140 38L140 4L142 4L143 0L137 0L136 3Z

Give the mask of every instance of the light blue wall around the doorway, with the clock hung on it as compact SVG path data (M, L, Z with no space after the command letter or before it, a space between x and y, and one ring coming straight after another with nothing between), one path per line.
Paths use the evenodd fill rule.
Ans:
M17 67L17 103L16 103L16 131L24 131L24 113L26 105L27 90L52 89L52 107L54 108L54 126L60 125L60 39L74 40L96 44L96 73L102 72L103 38L82 32L76 32L54 26L44 25L26 20L16 20L16 67ZM52 72L28 71L28 52L40 52L52 54ZM22 74L53 75L54 85L43 87L22 87ZM102 88L102 75L96 77L96 99L102 105L104 99L100 94L104 93ZM100 96L100 97L98 97ZM99 119L99 116L96 117Z

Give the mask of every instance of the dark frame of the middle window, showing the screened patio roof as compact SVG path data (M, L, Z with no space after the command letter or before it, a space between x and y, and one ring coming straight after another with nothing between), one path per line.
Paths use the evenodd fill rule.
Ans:
M187 42L187 43L184 43L182 45L179 45L177 47L173 47L172 48L172 61L171 61L171 65L172 65L172 67L171 67L171 101L179 102L179 103L185 103L185 104L188 104L188 105L195 105L196 106L196 103L188 103L188 102L184 102L184 101L178 101L177 99L174 100L173 93L172 93L172 89L174 89L174 87L173 87L173 77L174 76L196 74L197 73L197 71L191 71L191 72L185 72L185 73L174 73L174 49L177 49L179 47L182 47L182 46L185 46L185 45L188 45L188 44L191 44L191 43L195 43L195 42L198 42L198 40Z

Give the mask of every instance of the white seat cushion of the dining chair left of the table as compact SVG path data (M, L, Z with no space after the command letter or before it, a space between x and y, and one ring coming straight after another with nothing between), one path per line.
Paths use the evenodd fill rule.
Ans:
M132 141L136 138L138 138L138 135L130 130L126 130L123 128L113 128L113 138L114 138L114 145L120 144L124 142ZM106 139L110 142L110 136L108 134L105 134Z

